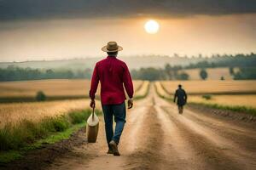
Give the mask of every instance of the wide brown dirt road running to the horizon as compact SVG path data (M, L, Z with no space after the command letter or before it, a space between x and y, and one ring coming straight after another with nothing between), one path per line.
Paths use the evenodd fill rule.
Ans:
M127 113L121 156L106 154L104 124L96 144L83 144L48 169L256 169L255 123L185 109L150 88Z

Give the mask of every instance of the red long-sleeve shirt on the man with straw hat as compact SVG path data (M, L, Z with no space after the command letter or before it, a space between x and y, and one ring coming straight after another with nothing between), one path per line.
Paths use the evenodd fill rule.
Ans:
M95 99L99 81L101 82L102 105L118 105L125 101L125 90L133 96L131 74L125 62L108 56L96 63L90 82L90 98ZM124 90L125 86L125 90Z

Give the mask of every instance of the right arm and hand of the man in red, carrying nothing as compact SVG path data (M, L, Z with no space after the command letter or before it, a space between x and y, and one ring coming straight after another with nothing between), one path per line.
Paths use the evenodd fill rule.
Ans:
M125 91L127 92L128 96L129 96L129 100L128 100L128 109L131 109L133 106L133 84L132 84L132 80L131 80L131 74L130 71L127 67L127 65L125 65L125 72L124 72L124 76L123 76L123 82L125 85Z

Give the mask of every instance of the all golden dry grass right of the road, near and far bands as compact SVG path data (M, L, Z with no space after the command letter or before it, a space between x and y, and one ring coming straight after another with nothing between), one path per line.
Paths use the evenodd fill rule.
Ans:
M155 84L160 95L172 98L179 83L190 94L189 102L256 108L256 81L170 81ZM203 98L203 94L209 94L211 99Z

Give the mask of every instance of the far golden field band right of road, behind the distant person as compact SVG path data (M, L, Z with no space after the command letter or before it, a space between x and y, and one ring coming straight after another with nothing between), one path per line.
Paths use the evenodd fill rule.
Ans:
M182 84L188 94L255 94L256 81L163 81L169 94Z

